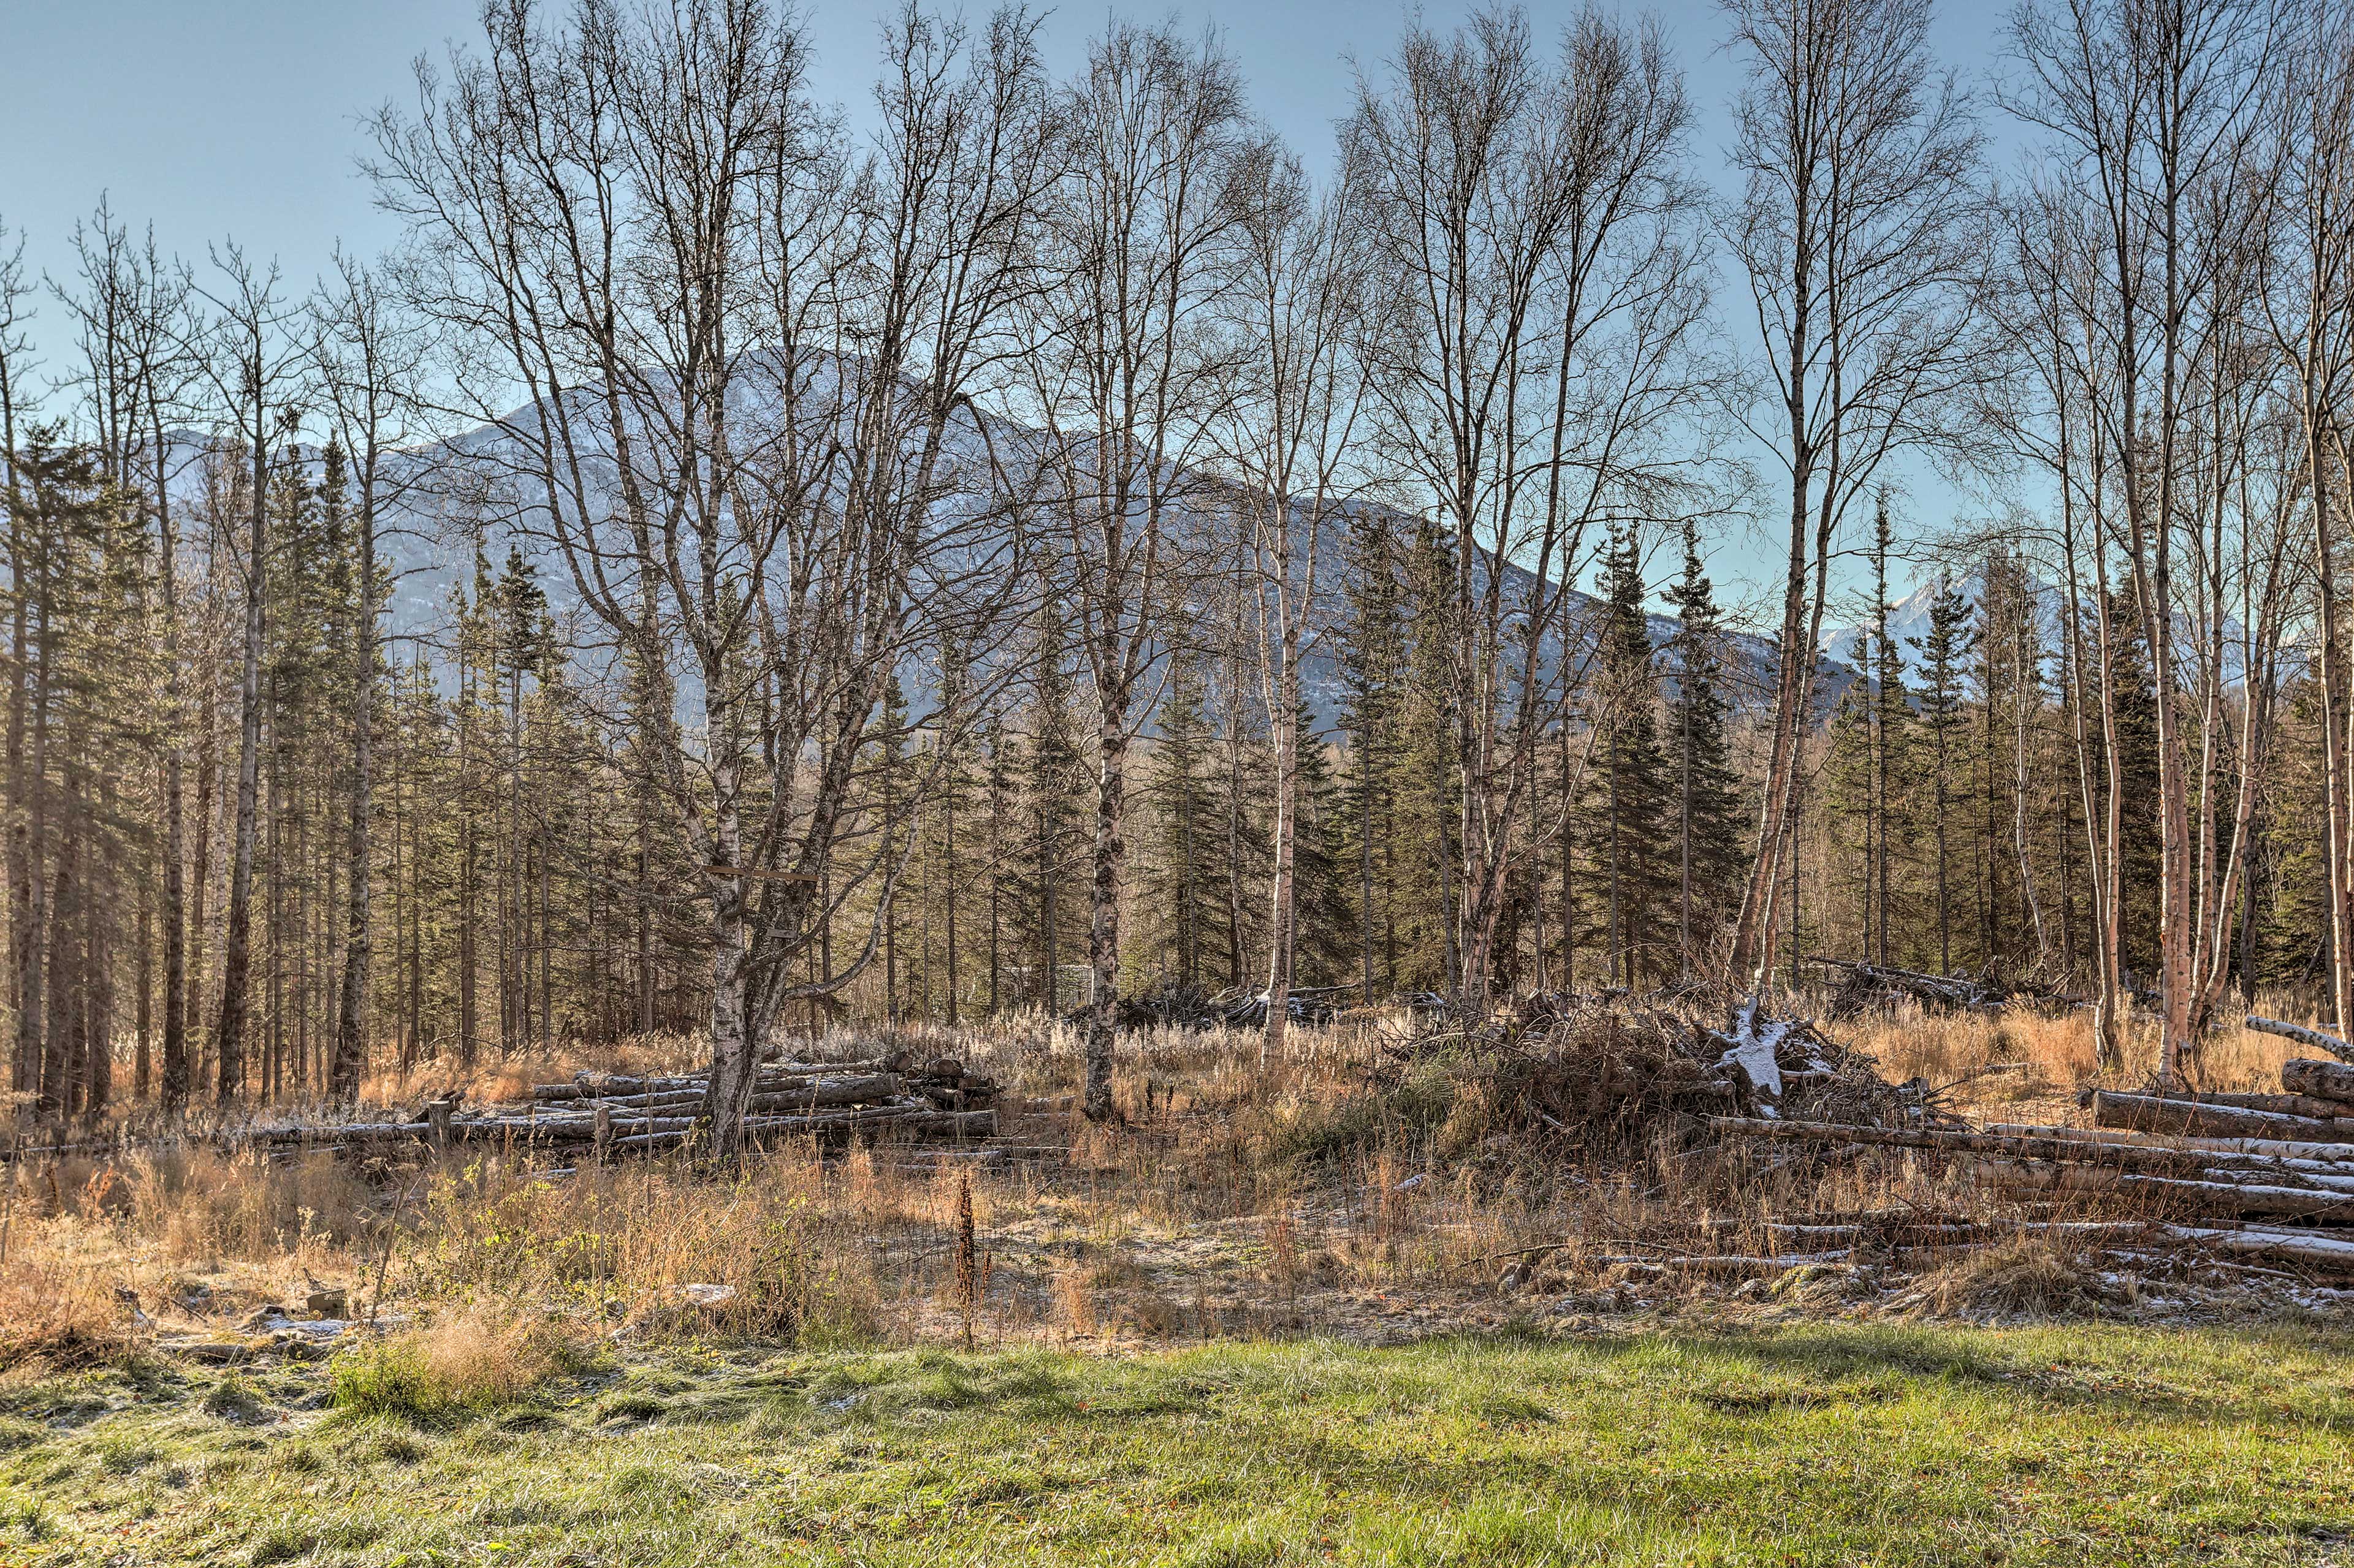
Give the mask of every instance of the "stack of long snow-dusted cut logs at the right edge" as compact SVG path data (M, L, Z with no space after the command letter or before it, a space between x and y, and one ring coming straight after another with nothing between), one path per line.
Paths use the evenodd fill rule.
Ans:
M2250 1017L2250 1029L2328 1050L2288 1062L2281 1095L2090 1095L2090 1128L1855 1128L1716 1118L1742 1137L1928 1149L2006 1196L2107 1217L2152 1238L2354 1271L2354 1045Z

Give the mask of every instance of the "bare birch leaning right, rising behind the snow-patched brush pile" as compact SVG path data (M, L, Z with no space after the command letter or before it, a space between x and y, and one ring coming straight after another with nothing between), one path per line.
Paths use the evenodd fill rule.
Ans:
M1751 436L1789 476L1758 855L1730 970L1773 975L1784 848L1841 527L1897 452L1944 447L1982 372L1989 271L1980 134L1930 73L1928 0L1728 0L1749 82L1725 242L1749 283L1770 396Z

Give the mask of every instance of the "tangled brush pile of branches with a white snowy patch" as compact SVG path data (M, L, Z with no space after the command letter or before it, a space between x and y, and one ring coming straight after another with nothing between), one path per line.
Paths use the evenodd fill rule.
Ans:
M1372 1078L1394 1085L1427 1062L1483 1081L1504 1125L1587 1140L1662 1125L1700 1132L1711 1116L1867 1128L1949 1121L1928 1083L1890 1083L1869 1052L1808 1019L1775 1019L1756 1001L1714 1026L1683 996L1549 994L1481 1022L1424 1022L1377 1055Z

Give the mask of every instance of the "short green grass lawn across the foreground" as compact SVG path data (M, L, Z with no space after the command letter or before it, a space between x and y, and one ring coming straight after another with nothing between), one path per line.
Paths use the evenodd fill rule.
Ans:
M2349 1563L2354 1337L1784 1328L0 1391L16 1563Z

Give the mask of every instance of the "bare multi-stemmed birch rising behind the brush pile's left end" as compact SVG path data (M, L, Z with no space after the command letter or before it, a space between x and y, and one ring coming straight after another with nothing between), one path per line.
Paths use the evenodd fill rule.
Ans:
M1344 129L1391 290L1384 450L1455 553L1462 866L1441 895L1471 1001L1514 873L1563 826L1535 791L1584 666L1572 584L1605 518L1664 520L1695 452L1688 122L1653 26L1584 12L1547 64L1525 14L1490 9L1455 38L1410 28Z

